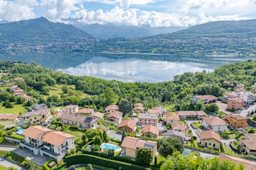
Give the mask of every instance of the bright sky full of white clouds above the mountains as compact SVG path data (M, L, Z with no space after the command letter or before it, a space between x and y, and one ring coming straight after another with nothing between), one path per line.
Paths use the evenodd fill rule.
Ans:
M190 27L256 18L256 0L0 0L0 21L44 16L53 22Z

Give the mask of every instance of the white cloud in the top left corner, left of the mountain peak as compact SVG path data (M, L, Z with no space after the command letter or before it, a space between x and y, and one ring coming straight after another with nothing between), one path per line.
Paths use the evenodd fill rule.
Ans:
M26 0L24 4L20 1L0 0L0 20L17 21L34 18L32 7L34 5L35 2L32 0Z

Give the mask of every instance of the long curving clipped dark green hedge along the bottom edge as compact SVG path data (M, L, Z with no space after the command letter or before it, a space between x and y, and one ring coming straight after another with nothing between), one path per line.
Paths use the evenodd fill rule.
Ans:
M113 169L120 169L120 167L123 170L130 170L130 169L133 169L133 170L148 169L149 170L150 169L150 168L134 165L131 163L105 159L105 158L97 157L94 155L87 155L87 154L75 154L75 155L67 156L66 162L67 162L67 166L90 163L90 164L96 164L99 166L109 167Z

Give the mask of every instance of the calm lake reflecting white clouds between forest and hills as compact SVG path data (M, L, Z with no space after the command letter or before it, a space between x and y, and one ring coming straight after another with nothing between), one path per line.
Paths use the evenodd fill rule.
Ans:
M123 82L163 82L191 71L213 71L233 62L255 58L233 55L153 55L153 54L68 54L0 56L0 60L31 63L35 61L47 68L70 75L90 76Z

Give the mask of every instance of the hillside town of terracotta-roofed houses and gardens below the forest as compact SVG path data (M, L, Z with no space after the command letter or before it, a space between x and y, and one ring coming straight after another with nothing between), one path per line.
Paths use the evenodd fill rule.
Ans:
M0 159L24 169L256 169L256 83L224 81L222 96L193 95L187 110L104 93L102 109L68 82L21 77L0 74Z

